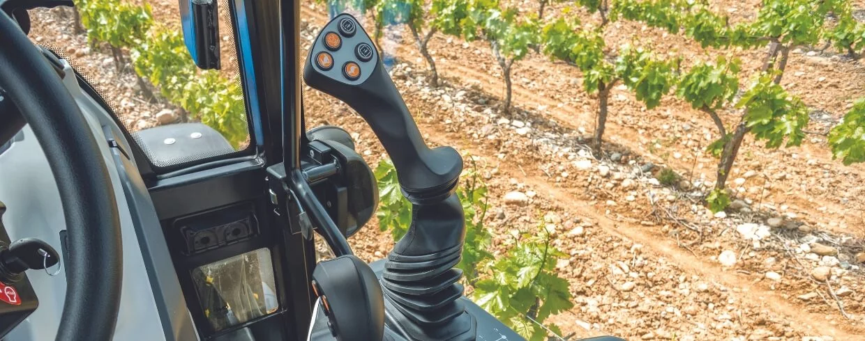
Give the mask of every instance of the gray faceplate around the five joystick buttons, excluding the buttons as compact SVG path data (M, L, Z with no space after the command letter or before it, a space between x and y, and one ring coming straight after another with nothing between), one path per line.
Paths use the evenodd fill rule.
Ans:
M356 33L350 37L343 35L338 27L338 25L343 22L354 23ZM336 51L331 51L324 46L324 35L327 35L330 32L340 35L343 40L342 46L339 47L339 49ZM368 61L360 60L355 55L355 47L362 43L366 43L369 45L369 47L372 47L372 57ZM312 46L309 58L315 60L316 56L320 52L326 52L332 56L333 66L330 67L329 70L325 70L313 61L312 65L316 67L316 70L319 73L330 77L331 79L336 79L337 81L349 85L359 85L366 81L369 78L369 75L373 73L373 70L375 69L375 63L378 61L379 58L378 51L375 49L375 44L373 44L373 41L369 39L369 35L367 35L367 33L361 28L360 24L355 20L354 16L350 16L344 13L342 15L336 16L333 21L331 21L327 26L322 28L322 31L318 34L316 38L315 44L313 44ZM361 66L360 78L356 80L351 80L343 76L343 65L349 61L354 61L359 66Z

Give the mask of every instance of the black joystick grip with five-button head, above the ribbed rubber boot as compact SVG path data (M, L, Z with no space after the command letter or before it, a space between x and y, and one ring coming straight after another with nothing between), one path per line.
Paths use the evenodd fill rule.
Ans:
M304 80L367 121L409 195L447 192L456 184L462 158L453 148L426 146L372 40L353 16L336 16L324 26L306 58Z

